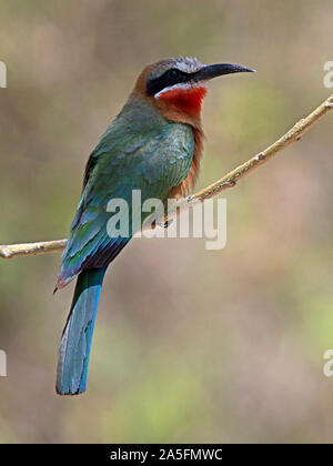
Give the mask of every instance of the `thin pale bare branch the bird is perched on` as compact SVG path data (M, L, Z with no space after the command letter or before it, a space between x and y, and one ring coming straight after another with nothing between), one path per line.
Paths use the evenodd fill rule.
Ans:
M333 94L326 99L321 105L319 105L312 113L306 118L300 120L291 130L289 130L282 138L276 142L270 145L264 151L258 153L248 162L238 166L236 169L229 172L225 176L218 180L215 183L210 184L201 191L198 191L195 194L190 195L186 199L181 200L174 207L173 212L169 212L170 217L174 214L179 214L185 209L192 207L199 202L203 202L206 199L210 199L216 194L220 194L222 191L228 188L232 188L236 182L245 176L251 170L259 168L263 163L272 159L278 152L285 149L287 145L292 144L295 141L299 141L301 136L322 116L324 116L330 110L333 109ZM164 221L168 220L164 219ZM58 241L42 241L39 243L26 243L26 244L11 244L0 246L0 257L12 259L22 255L38 255L61 252L65 246L67 240Z

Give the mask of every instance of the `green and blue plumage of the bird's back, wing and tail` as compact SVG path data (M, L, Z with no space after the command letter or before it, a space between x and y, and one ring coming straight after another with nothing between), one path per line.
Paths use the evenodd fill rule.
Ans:
M191 126L167 121L138 98L130 98L92 152L84 174L82 196L63 253L58 284L79 274L73 302L59 350L57 392L74 395L85 391L88 364L98 301L107 267L131 240L107 230L112 216L107 206L123 199L132 225L132 190L141 202L164 201L185 178L194 151ZM123 214L122 214L123 215ZM141 221L149 215L141 214ZM138 222L139 230L141 222Z

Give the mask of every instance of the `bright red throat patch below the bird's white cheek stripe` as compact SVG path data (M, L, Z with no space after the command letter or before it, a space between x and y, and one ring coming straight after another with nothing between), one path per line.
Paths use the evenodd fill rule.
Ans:
M202 99L206 94L206 88L195 85L193 88L175 88L162 92L159 99L163 102L176 107L184 113L196 115L201 111Z

